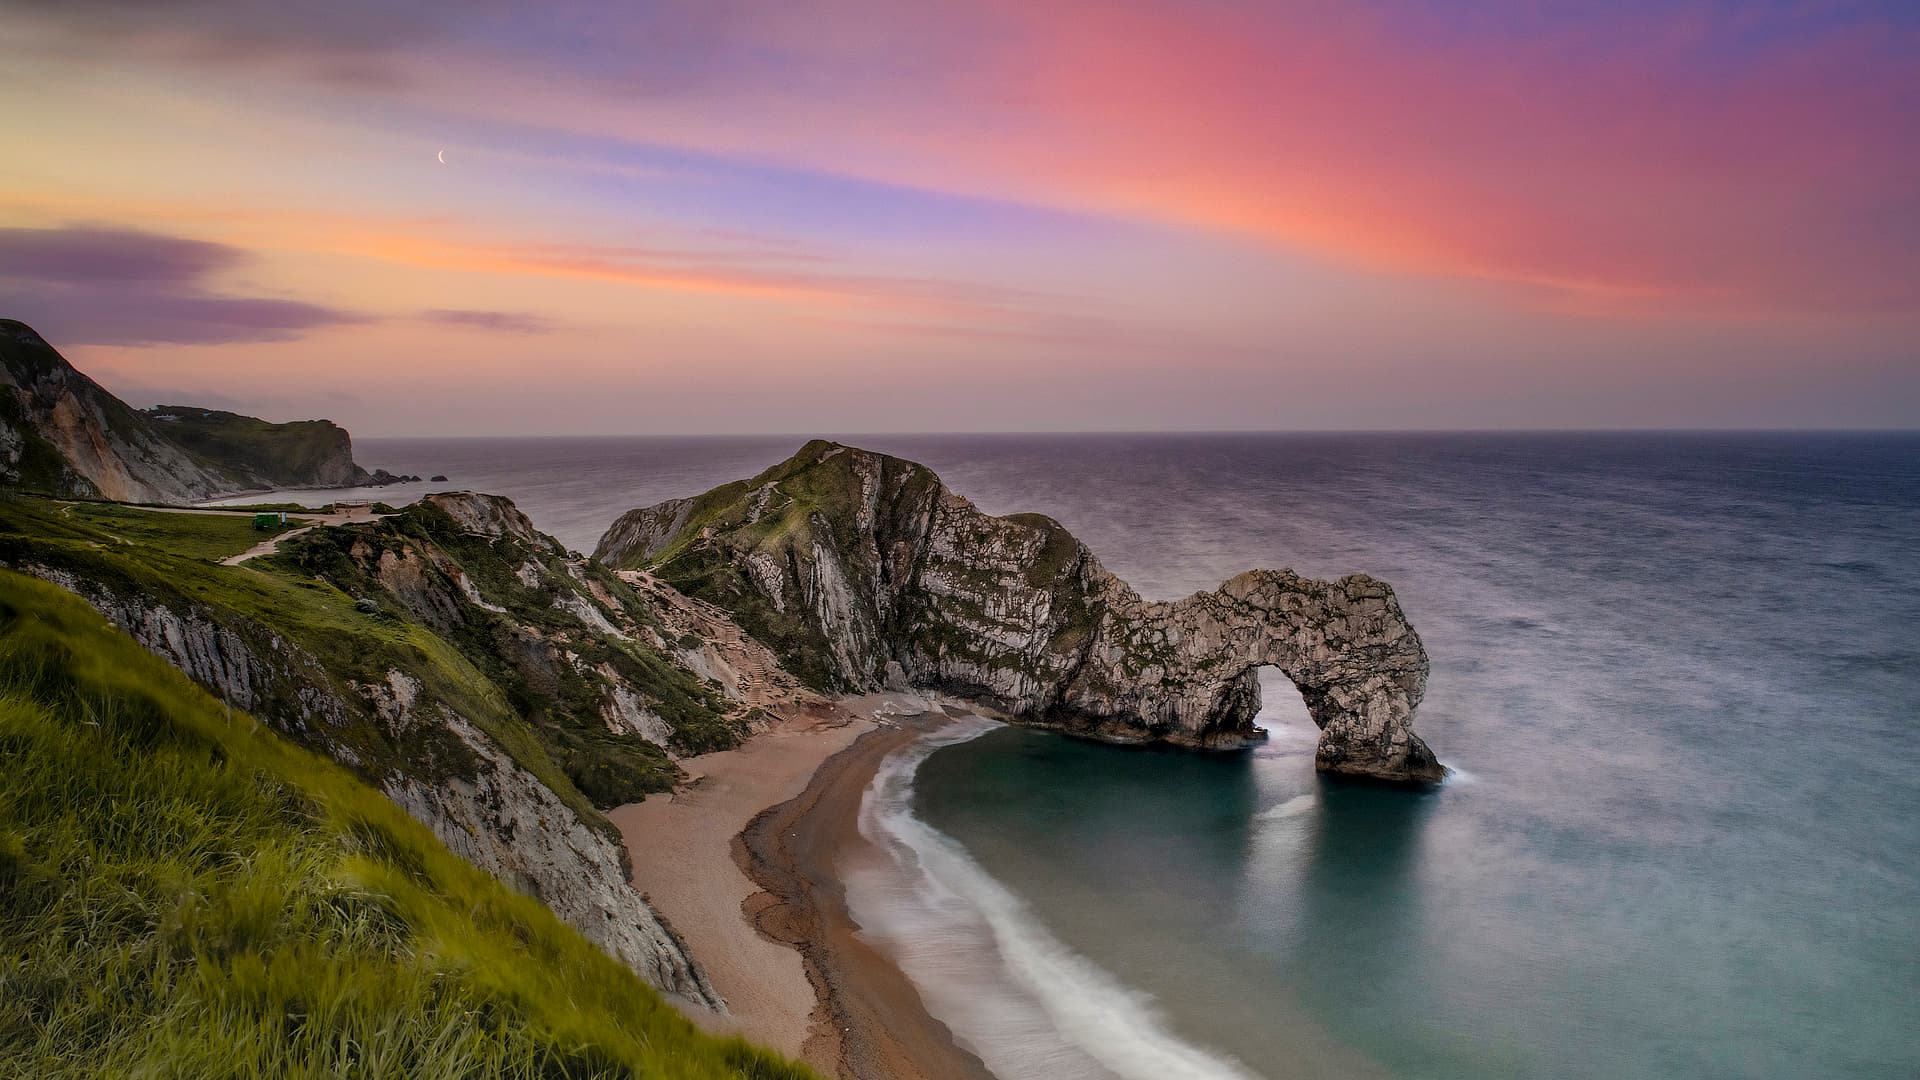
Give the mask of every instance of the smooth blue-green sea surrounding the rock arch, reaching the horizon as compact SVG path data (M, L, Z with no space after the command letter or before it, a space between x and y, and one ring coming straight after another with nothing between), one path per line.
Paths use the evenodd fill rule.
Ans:
M1432 657L1432 792L1319 778L1275 671L1252 751L964 719L893 757L849 903L1004 1080L1920 1076L1920 436L841 438L1148 598L1375 575ZM359 457L588 552L801 442Z

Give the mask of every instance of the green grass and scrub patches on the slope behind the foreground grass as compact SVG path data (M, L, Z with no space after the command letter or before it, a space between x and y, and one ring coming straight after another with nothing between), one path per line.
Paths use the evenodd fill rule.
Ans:
M371 525L313 530L290 540L280 555L244 567L211 565L209 559L244 552L261 536L240 515L228 521L117 503L69 507L0 498L0 565L42 565L173 609L204 611L257 640L261 655L276 651L271 636L284 636L321 657L324 673L313 678L330 682L348 701L359 701L348 684L380 684L388 673L407 673L420 682L424 701L447 703L470 719L607 834L612 826L599 809L670 790L682 773L659 746L607 728L599 713L601 669L645 688L682 753L735 746L743 734L728 703L659 650L591 632L553 607L545 586L516 577L516 569L540 563L549 580L559 580L564 567L553 552L511 538L467 536L444 513L417 505ZM382 555L417 555L428 546L440 559L465 567L505 611L467 601L440 569L424 569L420 590L447 603L445 617L430 625L409 609L407 596L369 573ZM417 563L430 567L432 559ZM582 573L632 615L647 615L645 601L605 569ZM355 611L355 598L374 598L380 611ZM413 601L420 605L419 598ZM540 638L530 640L530 632ZM563 644L589 667L547 663L541 640ZM298 686L275 690L284 690L286 711L298 711ZM315 730L328 740L328 751L344 746L361 761L369 778L401 771L438 782L463 769L459 748L432 738L434 726L413 726L403 742L372 723Z

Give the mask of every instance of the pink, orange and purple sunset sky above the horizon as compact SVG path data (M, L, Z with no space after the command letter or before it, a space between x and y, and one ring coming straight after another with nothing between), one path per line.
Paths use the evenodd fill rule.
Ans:
M0 0L0 315L355 434L1920 425L1920 4Z

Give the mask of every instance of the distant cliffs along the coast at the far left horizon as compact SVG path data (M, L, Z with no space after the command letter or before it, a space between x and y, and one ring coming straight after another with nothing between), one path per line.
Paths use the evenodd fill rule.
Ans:
M31 327L0 319L0 484L58 496L194 502L265 488L374 482L330 421L267 423L217 409L140 411L77 371Z

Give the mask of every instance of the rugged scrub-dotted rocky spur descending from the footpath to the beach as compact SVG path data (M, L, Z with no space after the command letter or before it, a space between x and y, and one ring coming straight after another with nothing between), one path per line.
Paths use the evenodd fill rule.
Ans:
M603 809L664 790L672 757L735 746L762 717L724 667L699 663L712 646L689 648L664 596L568 553L501 496L430 494L376 525L296 538L282 557L465 651Z

